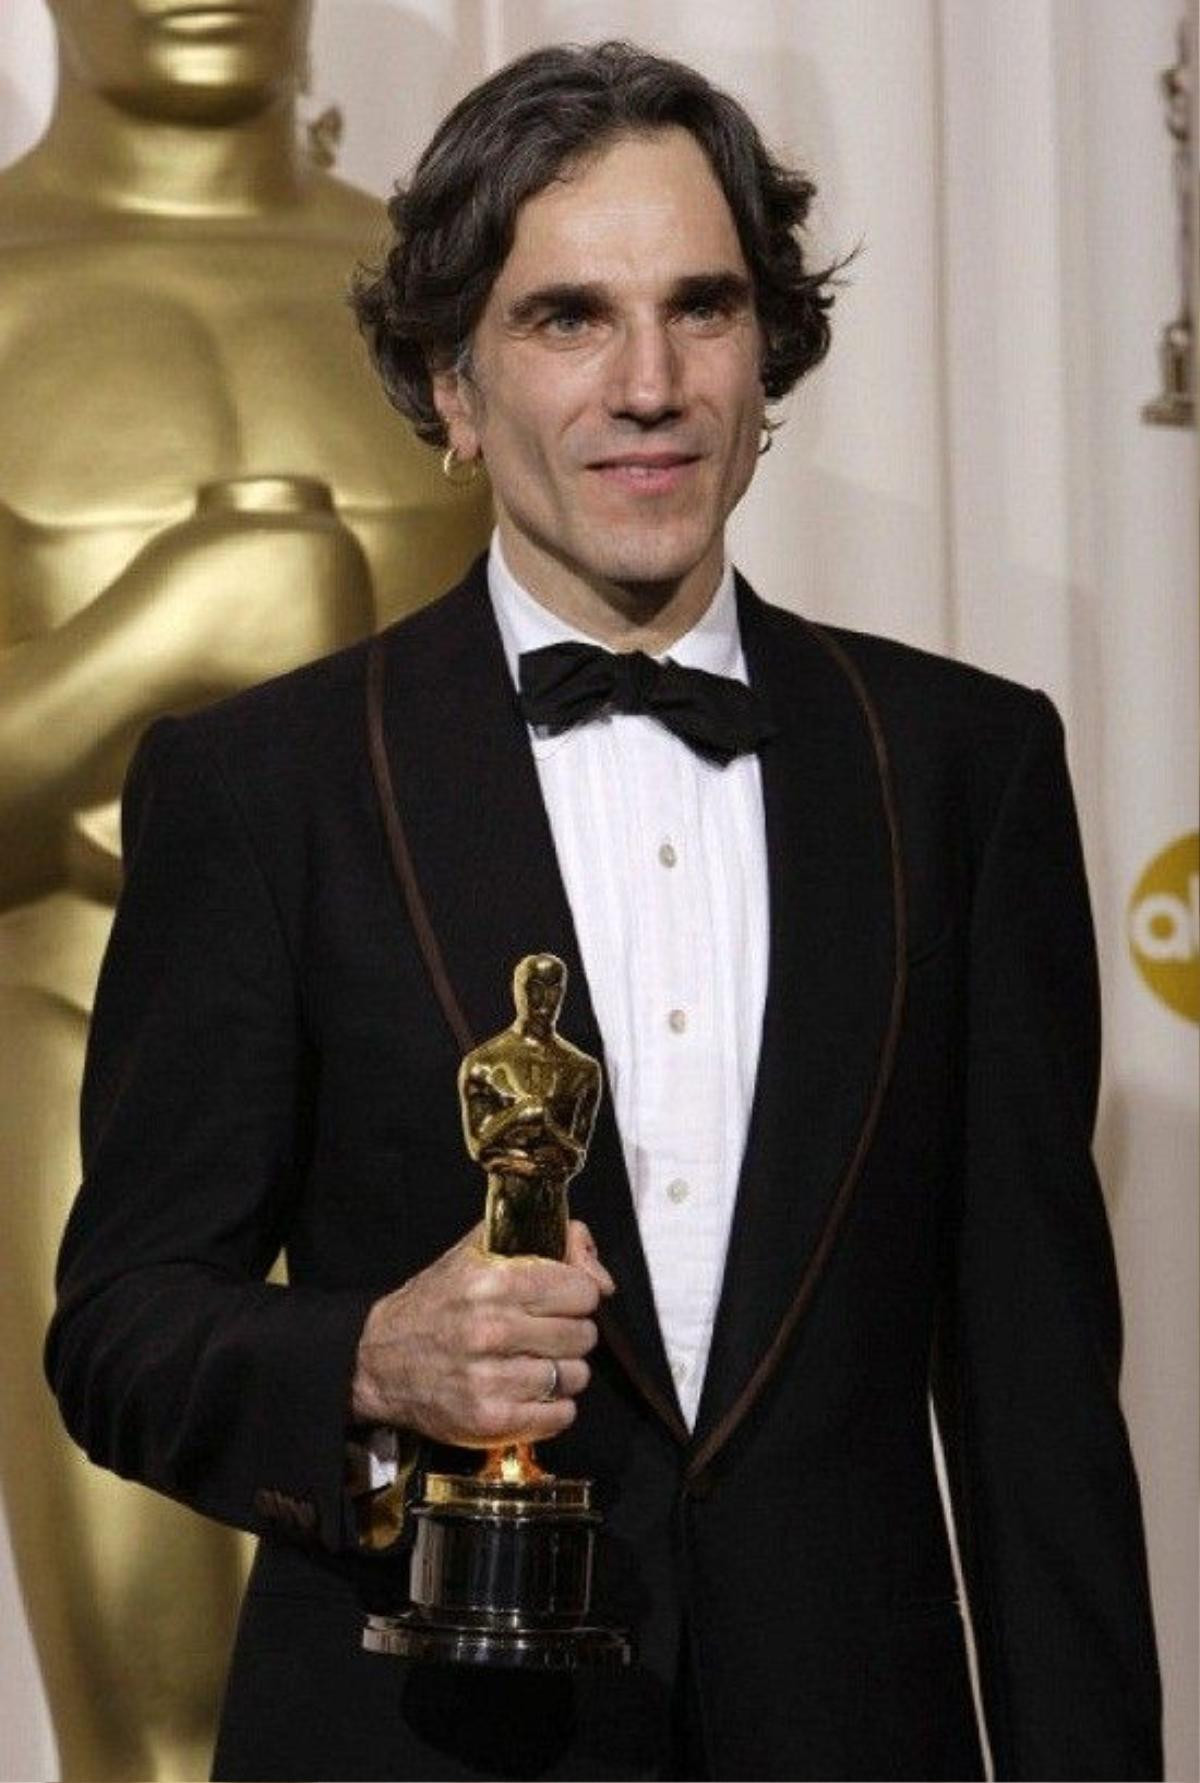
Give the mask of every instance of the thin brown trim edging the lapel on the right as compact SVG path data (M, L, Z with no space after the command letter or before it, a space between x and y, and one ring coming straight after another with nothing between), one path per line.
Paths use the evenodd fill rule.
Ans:
M900 1039L900 1027L904 1022L904 998L908 990L908 904L904 888L900 818L897 809L895 786L892 779L888 742L884 736L883 722L879 719L875 703L870 697L867 683L863 681L854 660L834 638L829 637L829 633L822 626L815 626L811 620L802 620L802 624L810 633L810 637L817 644L820 644L820 647L833 658L836 667L851 683L854 697L867 722L867 729L870 733L870 744L875 758L875 770L879 776L879 793L883 801L888 847L892 856L892 911L893 911L893 947L895 947L892 998L890 998L888 1023L879 1048L875 1080L872 1086L870 1100L867 1104L867 1113L863 1116L863 1123L858 1139L854 1143L854 1148L851 1152L845 1173L834 1191L829 1212L826 1214L820 1236L808 1257L804 1273L801 1275L792 1303L788 1305L788 1311L783 1316L768 1348L763 1352L754 1371L745 1382L745 1387L733 1401L733 1405L727 1409L727 1412L724 1412L724 1416L713 1425L713 1428L706 1432L699 1446L688 1455L686 1482L690 1487L695 1487L701 1482L704 1469L711 1464L719 1450L724 1448L724 1444L729 1441L733 1432L747 1416L754 1401L760 1398L760 1394L767 1387L767 1382L779 1366L788 1348L788 1343L792 1341L795 1327L804 1316L804 1309L808 1307L813 1291L817 1287L817 1282L822 1275L822 1269L829 1261L829 1253L833 1252L838 1230L842 1228L842 1221L845 1220L854 1189L858 1186L863 1163L875 1136L875 1127L879 1125L879 1114L883 1109L884 1097L888 1093L888 1084L892 1080L892 1070L895 1064L895 1054Z

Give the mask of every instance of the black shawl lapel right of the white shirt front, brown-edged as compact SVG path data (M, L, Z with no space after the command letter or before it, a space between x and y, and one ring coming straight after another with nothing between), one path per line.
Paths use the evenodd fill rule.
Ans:
M688 1475L767 1387L854 1193L904 1000L886 745L842 647L738 583L761 751L770 974L738 1198Z

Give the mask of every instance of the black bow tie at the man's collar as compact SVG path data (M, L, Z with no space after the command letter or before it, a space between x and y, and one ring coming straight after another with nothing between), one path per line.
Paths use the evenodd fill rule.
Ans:
M703 669L658 663L644 651L613 654L599 644L547 644L521 656L521 711L551 735L610 706L644 711L710 761L758 749L776 727L745 683Z

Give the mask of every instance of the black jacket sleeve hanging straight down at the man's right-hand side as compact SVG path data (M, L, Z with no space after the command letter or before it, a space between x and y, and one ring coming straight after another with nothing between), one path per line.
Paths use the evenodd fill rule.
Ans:
M1038 697L975 884L963 1198L934 1391L997 1778L1161 1778L1122 1321L1091 1163L1095 941Z

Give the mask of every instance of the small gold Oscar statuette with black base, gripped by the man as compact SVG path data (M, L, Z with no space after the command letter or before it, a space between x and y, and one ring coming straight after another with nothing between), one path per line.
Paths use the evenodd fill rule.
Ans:
M471 1157L487 1170L483 1248L562 1257L567 1184L587 1159L601 1068L558 1034L567 968L530 954L514 972L515 1022L462 1061ZM428 1473L414 1510L401 1615L369 1615L373 1653L565 1671L628 1665L622 1630L590 1621L599 1516L590 1480L547 1473L528 1442L501 1442L474 1475Z

